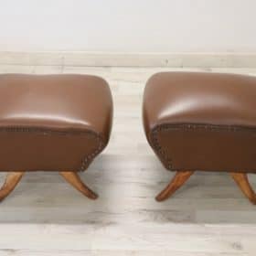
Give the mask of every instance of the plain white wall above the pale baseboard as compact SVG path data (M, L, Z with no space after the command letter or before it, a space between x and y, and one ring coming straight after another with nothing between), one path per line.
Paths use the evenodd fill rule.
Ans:
M0 51L256 52L255 0L0 0Z

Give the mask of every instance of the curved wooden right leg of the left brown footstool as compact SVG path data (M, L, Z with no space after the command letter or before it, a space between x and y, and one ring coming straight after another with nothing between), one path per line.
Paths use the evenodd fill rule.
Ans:
M75 172L59 172L70 185L77 188L84 196L96 199L98 196L81 181L80 176Z

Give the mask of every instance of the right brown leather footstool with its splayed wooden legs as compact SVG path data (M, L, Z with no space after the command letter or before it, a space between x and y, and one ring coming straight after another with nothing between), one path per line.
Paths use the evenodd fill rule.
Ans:
M256 173L256 78L166 72L148 80L144 130L165 168L176 171L156 197L170 197L195 171L229 172L253 204Z

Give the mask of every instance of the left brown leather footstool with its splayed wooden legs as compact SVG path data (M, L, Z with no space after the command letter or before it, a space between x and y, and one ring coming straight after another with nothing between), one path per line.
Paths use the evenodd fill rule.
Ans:
M108 144L112 94L87 75L0 75L0 171L9 172L0 200L25 172L59 171L91 199L84 171Z

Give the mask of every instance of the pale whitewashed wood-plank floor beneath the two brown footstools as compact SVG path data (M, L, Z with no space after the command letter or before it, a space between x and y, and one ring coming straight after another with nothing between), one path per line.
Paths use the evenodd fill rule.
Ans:
M1 73L100 75L114 100L111 142L82 174L100 198L81 196L57 173L27 174L0 204L1 256L256 255L256 207L228 174L197 173L175 197L155 202L173 173L146 143L141 105L145 81L161 70L185 69L0 66Z

